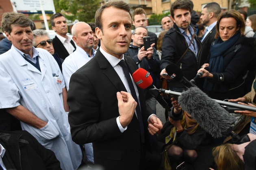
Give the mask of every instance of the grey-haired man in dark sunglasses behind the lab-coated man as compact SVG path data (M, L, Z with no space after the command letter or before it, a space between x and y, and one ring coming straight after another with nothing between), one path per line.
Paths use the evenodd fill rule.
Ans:
M54 59L59 65L59 68L62 71L61 65L64 60L61 59L57 53L54 53L52 43L53 40L50 39L48 32L46 32L45 30L36 29L33 31L33 46L35 48L46 49L54 57Z

